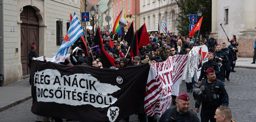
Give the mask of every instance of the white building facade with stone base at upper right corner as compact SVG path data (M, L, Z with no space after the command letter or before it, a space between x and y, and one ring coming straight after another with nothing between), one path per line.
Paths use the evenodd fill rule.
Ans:
M255 0L226 0L212 1L212 33L218 43L228 43L224 28L229 39L237 36L238 56L253 57L256 39L256 1Z

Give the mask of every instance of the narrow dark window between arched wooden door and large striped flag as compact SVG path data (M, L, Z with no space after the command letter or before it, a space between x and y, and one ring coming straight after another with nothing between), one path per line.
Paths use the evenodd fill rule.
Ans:
M56 21L56 45L61 45L63 41L63 22L61 20Z

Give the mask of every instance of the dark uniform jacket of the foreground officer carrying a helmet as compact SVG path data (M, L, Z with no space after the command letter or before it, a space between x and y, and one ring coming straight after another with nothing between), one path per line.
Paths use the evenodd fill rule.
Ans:
M223 82L216 79L216 81L212 83L208 83L207 80L205 80L203 83L201 83L199 87L203 85L205 86L205 88L207 88L207 90L203 91L204 98L202 102L202 109L203 108L215 109L221 105L229 106L229 96L228 96L228 93L226 92L225 85ZM214 88L212 87L212 85L214 85ZM195 107L199 108L200 103L196 102Z

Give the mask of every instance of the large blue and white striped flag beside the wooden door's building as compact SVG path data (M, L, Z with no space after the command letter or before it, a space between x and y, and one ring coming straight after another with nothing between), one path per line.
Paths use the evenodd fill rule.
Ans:
M68 53L69 47L76 42L79 37L84 35L84 30L82 30L82 26L79 22L79 19L76 16L76 12L74 13L73 19L68 29L68 38L69 40L63 40L62 44L60 45L60 49L56 54L55 62L64 62L65 56Z

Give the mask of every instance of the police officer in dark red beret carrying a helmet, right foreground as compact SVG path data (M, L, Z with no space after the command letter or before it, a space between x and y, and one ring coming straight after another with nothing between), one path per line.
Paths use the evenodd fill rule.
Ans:
M201 108L201 121L202 122L215 122L214 119L215 111L219 106L228 106L229 105L229 96L226 92L225 85L220 80L216 79L216 74L213 68L207 69L207 80L205 80L199 88L203 92L199 92L199 94L203 93L203 98L201 100L195 98L194 92L193 96L196 99L195 108L196 112L199 112L200 105ZM196 90L195 90L196 91Z

